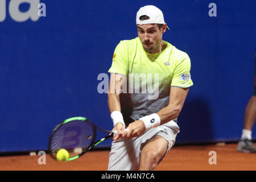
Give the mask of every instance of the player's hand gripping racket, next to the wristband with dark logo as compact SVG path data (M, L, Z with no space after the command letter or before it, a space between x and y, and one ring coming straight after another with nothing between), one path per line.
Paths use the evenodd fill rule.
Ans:
M137 120L130 123L126 130L127 132L123 135L122 139L139 137L146 131L146 128L143 121Z

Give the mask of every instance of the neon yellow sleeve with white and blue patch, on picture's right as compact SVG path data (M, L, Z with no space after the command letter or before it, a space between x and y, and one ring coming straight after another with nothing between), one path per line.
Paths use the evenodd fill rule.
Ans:
M177 86L180 88L188 88L193 85L190 74L191 61L186 54L184 59L176 64L172 77L171 86Z

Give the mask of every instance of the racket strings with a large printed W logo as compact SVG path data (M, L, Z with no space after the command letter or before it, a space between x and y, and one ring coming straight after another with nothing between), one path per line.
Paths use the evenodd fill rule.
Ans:
M85 121L70 121L60 125L52 135L49 152L56 158L56 153L64 148L69 152L69 158L85 151L94 139L94 128Z

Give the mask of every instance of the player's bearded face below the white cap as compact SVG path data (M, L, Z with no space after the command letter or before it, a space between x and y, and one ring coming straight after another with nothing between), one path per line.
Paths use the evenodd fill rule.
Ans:
M158 24L137 24L138 36L141 39L143 48L148 53L161 51L163 31L159 30Z

